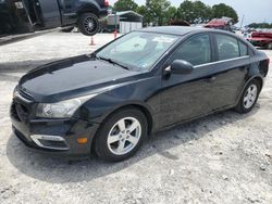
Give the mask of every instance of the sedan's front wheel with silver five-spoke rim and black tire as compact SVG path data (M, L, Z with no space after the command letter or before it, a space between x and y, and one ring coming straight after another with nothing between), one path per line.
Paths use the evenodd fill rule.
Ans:
M121 110L109 116L95 140L97 155L109 162L133 156L147 138L147 119L136 109Z

